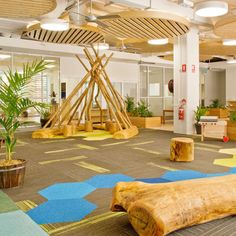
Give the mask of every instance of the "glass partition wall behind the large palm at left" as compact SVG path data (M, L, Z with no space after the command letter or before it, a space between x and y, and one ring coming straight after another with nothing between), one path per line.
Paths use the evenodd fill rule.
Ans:
M47 69L32 78L29 86L30 98L37 102L45 102L48 104L58 104L60 102L60 78L59 66L60 60L55 57L42 57L37 55L29 55L22 53L0 53L0 76L4 79L4 71L12 69L22 73L23 65L32 63L33 61L45 60L49 64ZM52 96L54 92L55 96ZM53 101L52 101L53 100ZM23 116L26 121L39 122L40 114L34 109L27 110Z

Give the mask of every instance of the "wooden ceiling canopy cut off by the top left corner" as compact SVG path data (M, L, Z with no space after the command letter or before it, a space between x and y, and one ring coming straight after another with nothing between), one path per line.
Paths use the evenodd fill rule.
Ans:
M0 17L30 18L52 11L56 0L0 0Z

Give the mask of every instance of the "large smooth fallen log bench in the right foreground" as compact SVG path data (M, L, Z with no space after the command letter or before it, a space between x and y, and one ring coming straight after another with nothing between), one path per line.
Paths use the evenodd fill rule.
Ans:
M175 230L236 215L236 175L172 183L120 182L112 211L125 211L140 236Z

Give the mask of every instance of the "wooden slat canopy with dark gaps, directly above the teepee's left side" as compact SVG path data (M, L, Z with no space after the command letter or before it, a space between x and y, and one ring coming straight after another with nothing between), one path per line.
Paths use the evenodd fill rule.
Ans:
M104 40L99 32L90 30L71 28L67 31L49 31L44 29L35 29L24 33L24 37L30 39L64 44L93 44Z

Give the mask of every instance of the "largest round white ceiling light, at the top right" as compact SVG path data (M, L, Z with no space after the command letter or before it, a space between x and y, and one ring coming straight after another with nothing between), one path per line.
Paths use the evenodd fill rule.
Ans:
M222 16L228 13L228 3L223 1L205 1L196 4L195 14L202 17Z

